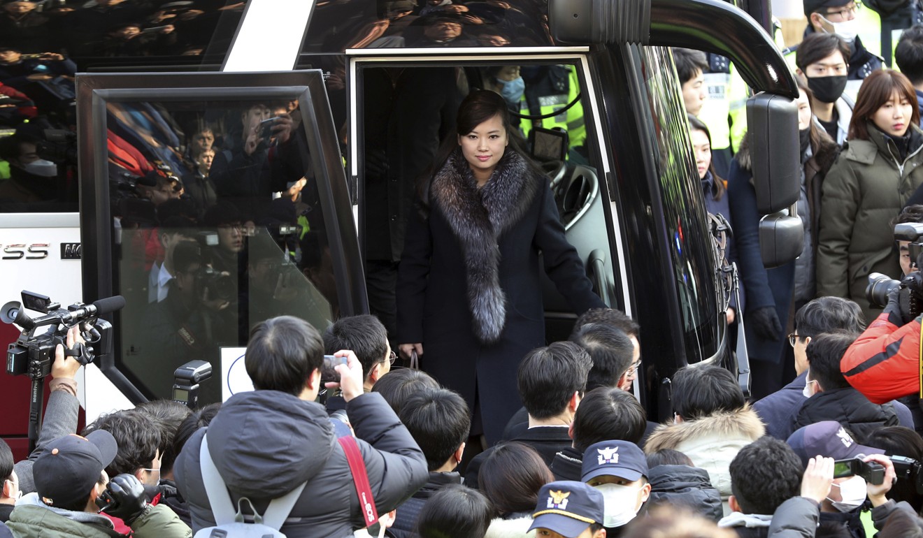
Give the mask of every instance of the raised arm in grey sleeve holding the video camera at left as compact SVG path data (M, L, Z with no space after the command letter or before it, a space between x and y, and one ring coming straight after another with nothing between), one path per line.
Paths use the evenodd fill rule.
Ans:
M67 349L74 349L78 343L84 343L78 328L67 331ZM65 356L64 346L58 345L54 350L52 363L52 381L48 387L48 404L42 419L42 432L35 449L28 460L18 461L14 470L19 478L19 489L23 495L35 491L32 481L32 465L46 451L48 444L55 438L73 434L77 431L77 415L80 401L77 399L77 381L74 379L80 369L75 357Z

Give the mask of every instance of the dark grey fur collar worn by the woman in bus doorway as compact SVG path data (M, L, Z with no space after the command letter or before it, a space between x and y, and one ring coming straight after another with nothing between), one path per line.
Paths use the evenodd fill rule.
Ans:
M462 246L474 335L482 343L498 341L506 320L497 243L532 205L542 185L539 179L525 159L511 149L480 189L462 149L452 151L433 176L430 199L445 215Z

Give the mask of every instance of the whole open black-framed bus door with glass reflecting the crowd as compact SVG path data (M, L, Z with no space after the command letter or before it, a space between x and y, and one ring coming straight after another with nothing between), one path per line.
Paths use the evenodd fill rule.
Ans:
M83 294L126 298L100 366L132 401L171 398L174 370L192 360L213 371L199 404L222 401L238 389L229 369L243 366L258 322L291 315L322 332L366 312L319 71L87 75L77 85ZM197 137L210 149L180 143ZM132 173L113 147L156 154L183 181L156 163Z

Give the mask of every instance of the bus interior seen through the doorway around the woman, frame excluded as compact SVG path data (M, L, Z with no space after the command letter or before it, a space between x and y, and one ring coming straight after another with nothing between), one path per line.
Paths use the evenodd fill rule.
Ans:
M579 64L414 66L360 64L359 120L365 168L360 169L360 230L366 260L369 309L396 332L394 286L405 222L414 209L418 180L447 137L454 139L455 114L470 90L494 90L507 101L517 136L548 171L560 220L604 299L612 295L614 272L605 231L609 208L601 168L602 148L589 145L583 114ZM536 131L541 135L536 137ZM531 135L531 136L530 136ZM536 143L536 140L538 143ZM542 141L545 140L543 143ZM595 261L594 261L595 260ZM574 317L554 284L544 281L548 337L566 339Z

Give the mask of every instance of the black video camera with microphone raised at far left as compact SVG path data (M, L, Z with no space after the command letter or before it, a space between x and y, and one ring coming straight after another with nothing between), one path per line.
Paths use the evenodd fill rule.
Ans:
M10 301L0 311L0 319L5 323L15 323L22 328L17 341L9 344L6 351L6 373L12 376L28 375L33 380L48 376L54 362L55 346L65 344L67 330L78 325L87 343L79 345L73 352L67 350L66 354L87 365L98 355L112 353L112 325L99 319L99 316L123 306L125 299L115 295L92 305L75 303L64 309L46 295L23 290L21 305ZM45 316L33 319L26 314L26 309L41 312ZM35 334L40 327L52 329Z

